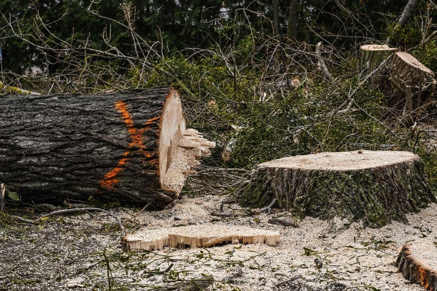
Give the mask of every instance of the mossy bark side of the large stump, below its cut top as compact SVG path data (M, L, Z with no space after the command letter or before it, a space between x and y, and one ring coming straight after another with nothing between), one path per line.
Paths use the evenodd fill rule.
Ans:
M295 215L362 220L381 227L437 202L421 160L364 170L258 168L239 194L242 205L264 207L276 197Z

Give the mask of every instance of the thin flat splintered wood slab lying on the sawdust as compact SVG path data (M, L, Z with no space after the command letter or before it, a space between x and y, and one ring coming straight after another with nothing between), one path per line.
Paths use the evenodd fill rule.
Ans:
M278 232L251 227L192 225L127 234L122 238L122 244L130 251L159 251L165 246L197 248L222 243L265 243L274 246L279 240Z

